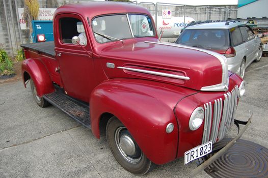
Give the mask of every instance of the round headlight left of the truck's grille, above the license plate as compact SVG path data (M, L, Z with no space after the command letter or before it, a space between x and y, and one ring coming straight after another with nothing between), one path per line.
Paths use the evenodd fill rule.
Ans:
M202 107L198 107L194 110L190 117L189 128L191 130L198 129L204 120L204 109Z

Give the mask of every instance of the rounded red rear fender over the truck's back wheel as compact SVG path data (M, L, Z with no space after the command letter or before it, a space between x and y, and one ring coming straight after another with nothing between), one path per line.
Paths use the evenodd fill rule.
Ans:
M21 65L21 73L25 87L25 73L30 75L31 79L35 83L36 92L39 97L55 91L46 67L40 60L36 58L28 58L24 60Z

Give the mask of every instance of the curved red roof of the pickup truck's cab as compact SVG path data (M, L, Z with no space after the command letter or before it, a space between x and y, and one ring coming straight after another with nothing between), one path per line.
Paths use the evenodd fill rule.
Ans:
M149 11L141 6L119 2L88 2L63 5L56 10L55 17L62 13L79 14L90 19L98 15L115 13L141 13L150 16Z

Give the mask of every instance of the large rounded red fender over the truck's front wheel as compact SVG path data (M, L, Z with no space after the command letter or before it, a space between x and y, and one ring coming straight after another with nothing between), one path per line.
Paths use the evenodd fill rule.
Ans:
M173 109L191 93L174 85L138 80L112 79L98 85L91 94L90 115L93 134L99 138L102 113L115 115L129 130L144 154L155 164L176 158L178 125ZM173 123L170 134L166 127Z

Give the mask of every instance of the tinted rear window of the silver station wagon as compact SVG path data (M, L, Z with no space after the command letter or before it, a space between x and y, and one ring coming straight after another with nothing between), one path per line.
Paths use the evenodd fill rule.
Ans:
M178 44L204 49L228 49L228 29L185 29L176 41Z

